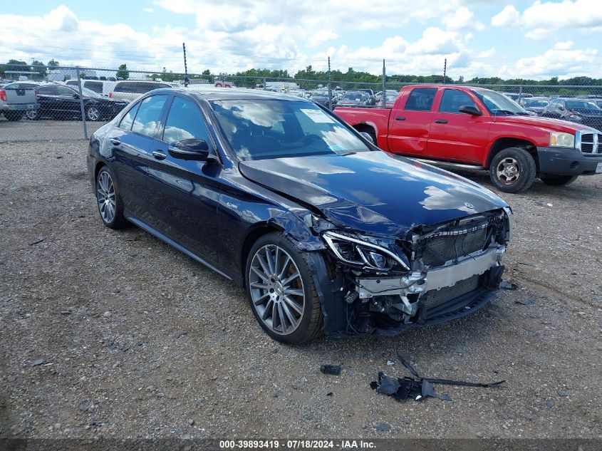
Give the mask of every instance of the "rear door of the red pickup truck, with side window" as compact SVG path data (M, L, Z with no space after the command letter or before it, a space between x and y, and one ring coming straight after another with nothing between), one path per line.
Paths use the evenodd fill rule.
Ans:
M388 146L394 153L424 157L437 88L414 88L389 118Z

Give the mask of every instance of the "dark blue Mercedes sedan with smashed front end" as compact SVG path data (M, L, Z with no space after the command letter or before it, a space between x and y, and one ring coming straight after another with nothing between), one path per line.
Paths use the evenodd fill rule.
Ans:
M94 133L88 172L105 225L133 222L243 285L285 343L472 313L512 230L494 193L288 95L152 91Z

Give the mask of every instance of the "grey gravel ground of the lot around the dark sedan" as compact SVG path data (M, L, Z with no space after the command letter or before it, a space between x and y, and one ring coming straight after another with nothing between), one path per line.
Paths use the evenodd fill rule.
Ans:
M242 289L103 227L85 145L0 145L0 437L602 437L602 177L504 195L518 289L482 311L291 347ZM398 351L422 375L507 383L397 403L369 384L409 375Z

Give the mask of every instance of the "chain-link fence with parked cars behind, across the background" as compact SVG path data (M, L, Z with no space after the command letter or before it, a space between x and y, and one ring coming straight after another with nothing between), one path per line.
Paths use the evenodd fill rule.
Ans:
M125 68L55 66L32 81L0 81L0 142L88 139L128 103L162 87L190 90L243 88L288 93L326 108L392 108L403 86L380 77L380 83L299 78L264 78L133 71ZM30 78L30 77L27 77ZM385 80L385 82L383 82ZM531 115L579 122L583 110L602 107L602 86L478 85L504 93ZM576 110L581 111L574 114ZM602 114L602 111L601 111ZM595 115L595 114L593 114ZM593 124L596 126L596 124ZM602 127L602 123L600 127Z

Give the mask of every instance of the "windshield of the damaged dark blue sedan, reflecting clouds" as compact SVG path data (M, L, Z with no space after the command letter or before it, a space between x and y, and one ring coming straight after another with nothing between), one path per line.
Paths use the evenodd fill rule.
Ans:
M301 100L213 100L212 108L240 160L365 152L336 118Z

